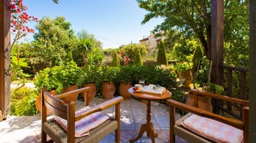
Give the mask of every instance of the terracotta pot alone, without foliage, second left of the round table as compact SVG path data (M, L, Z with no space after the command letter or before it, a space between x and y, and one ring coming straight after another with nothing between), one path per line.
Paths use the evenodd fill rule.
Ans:
M116 86L113 82L103 82L102 84L102 95L104 99L114 98L116 92Z

